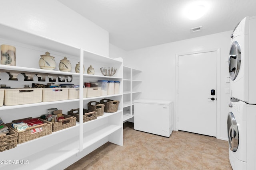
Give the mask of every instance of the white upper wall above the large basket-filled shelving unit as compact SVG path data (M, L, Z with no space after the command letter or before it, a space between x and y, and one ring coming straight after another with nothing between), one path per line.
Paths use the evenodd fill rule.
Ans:
M108 57L108 32L57 0L1 0L0 24Z

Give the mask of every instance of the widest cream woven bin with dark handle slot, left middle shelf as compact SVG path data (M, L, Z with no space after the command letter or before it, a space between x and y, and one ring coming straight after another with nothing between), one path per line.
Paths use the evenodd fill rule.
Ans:
M42 102L42 88L6 88L4 105L12 106Z

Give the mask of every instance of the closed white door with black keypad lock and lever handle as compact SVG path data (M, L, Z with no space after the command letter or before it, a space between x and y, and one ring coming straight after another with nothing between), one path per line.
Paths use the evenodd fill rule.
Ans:
M216 51L178 56L179 130L216 137L216 59Z

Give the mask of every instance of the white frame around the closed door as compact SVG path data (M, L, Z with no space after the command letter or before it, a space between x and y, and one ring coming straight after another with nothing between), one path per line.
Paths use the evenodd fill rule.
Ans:
M175 58L175 131L178 131L178 59L179 56L216 52L216 138L220 138L220 48L176 54Z

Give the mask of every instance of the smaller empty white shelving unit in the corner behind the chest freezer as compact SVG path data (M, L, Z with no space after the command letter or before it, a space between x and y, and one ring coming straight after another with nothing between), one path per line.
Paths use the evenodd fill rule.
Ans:
M133 114L133 101L138 99L140 93L140 84L142 80L140 78L141 70L137 70L128 66L124 66L124 103L123 103L123 122L132 121Z

